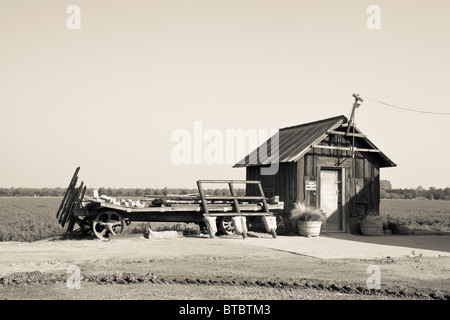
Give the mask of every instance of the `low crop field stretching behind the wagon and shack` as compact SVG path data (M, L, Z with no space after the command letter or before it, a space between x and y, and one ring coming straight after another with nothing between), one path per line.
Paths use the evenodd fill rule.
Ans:
M0 241L35 241L65 232L57 223L61 198L0 198ZM450 232L450 201L381 200L381 215L394 234ZM179 228L179 226L175 226ZM128 232L142 230L132 223Z

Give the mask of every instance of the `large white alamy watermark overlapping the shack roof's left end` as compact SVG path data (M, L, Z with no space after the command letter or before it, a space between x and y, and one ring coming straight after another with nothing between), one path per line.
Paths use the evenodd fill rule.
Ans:
M263 165L262 175L278 172L279 133L276 129L204 130L202 121L194 121L193 130L178 128L172 132L171 140L177 142L171 152L172 163L177 165Z

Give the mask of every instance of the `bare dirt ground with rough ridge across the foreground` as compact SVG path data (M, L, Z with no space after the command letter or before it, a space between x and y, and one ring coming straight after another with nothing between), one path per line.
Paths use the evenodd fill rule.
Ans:
M449 288L448 256L321 259L239 236L0 243L1 299L450 300Z

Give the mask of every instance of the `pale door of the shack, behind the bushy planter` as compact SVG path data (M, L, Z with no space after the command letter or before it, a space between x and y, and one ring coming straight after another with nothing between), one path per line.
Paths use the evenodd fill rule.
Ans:
M320 170L320 209L327 220L322 224L325 231L342 231L341 213L341 172L339 170Z

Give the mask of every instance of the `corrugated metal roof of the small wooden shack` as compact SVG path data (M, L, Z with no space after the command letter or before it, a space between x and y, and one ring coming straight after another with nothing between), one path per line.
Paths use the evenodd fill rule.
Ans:
M279 131L269 138L265 144L262 144L244 159L236 163L233 168L297 161L311 149L311 145L317 144L325 139L328 135L328 130L335 130L345 122L347 122L347 118L345 116L337 116L279 129ZM278 161L276 161L276 157L271 159L270 156L265 156L270 154L272 144L276 143L277 139L279 149ZM375 145L367 138L364 138L364 140L366 140L372 147L376 148ZM269 150L269 152L266 150ZM276 147L273 151L275 151L276 154ZM258 155L260 155L262 159L260 159ZM380 153L380 156L385 160L384 166L395 166L395 163L393 163L383 153Z

